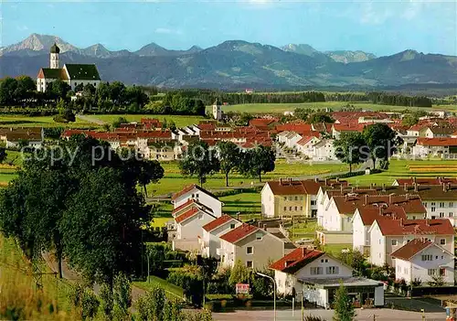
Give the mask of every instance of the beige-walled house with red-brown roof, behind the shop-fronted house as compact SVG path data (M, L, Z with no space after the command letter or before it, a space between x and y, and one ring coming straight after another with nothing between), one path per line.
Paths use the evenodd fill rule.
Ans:
M252 269L263 269L284 256L284 241L265 229L243 223L220 236L221 266L241 262Z

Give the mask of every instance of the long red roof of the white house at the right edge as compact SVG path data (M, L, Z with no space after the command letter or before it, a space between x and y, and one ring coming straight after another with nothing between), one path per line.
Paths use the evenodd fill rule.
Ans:
M449 219L376 219L376 221L383 235L454 234Z

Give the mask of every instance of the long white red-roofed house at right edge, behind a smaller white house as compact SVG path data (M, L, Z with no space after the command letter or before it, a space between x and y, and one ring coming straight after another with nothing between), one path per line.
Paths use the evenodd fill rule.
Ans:
M385 263L395 266L390 254L418 238L454 252L454 230L448 219L376 219L368 232L369 261L378 266Z

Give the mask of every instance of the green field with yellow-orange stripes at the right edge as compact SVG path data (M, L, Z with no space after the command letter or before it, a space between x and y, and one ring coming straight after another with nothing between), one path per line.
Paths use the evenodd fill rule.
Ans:
M387 171L379 174L350 177L347 180L358 186L368 186L376 183L377 186L391 185L396 178L400 177L457 177L455 160L390 160Z

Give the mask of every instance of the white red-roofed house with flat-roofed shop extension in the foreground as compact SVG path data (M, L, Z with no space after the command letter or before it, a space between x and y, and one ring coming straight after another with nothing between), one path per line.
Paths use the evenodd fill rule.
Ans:
M355 304L384 305L383 284L374 280L353 277L351 267L333 256L316 250L298 248L271 264L280 294L303 293L304 299L316 305L330 307L340 282L345 284Z

